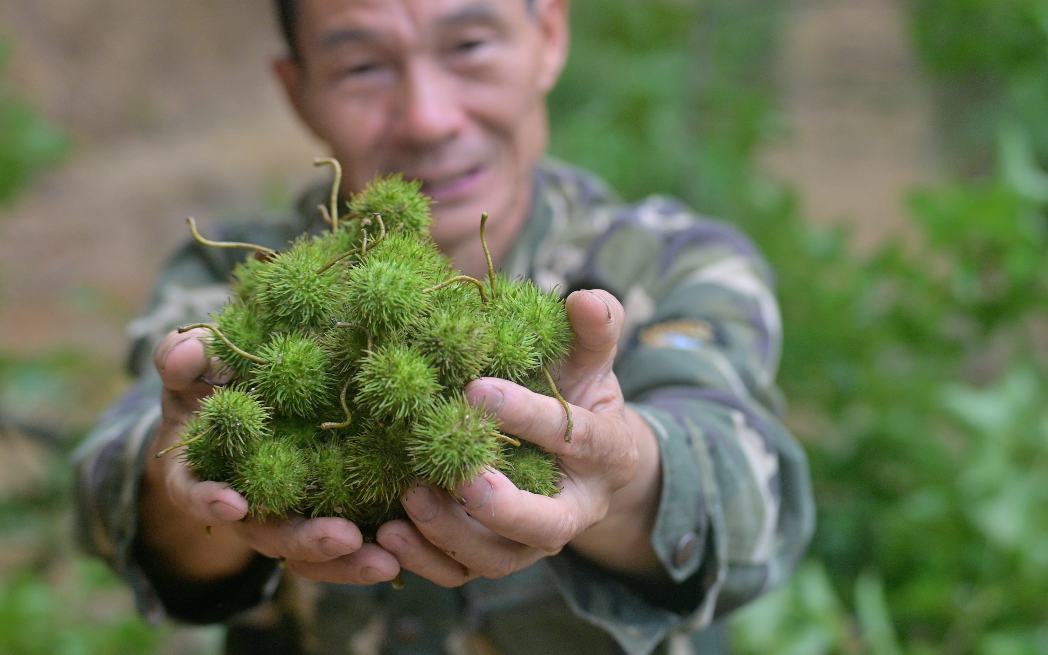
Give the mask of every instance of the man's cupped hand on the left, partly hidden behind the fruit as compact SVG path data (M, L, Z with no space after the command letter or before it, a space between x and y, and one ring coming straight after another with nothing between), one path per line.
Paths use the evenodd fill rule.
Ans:
M224 381L200 341L202 329L171 332L156 349L163 381L162 419L151 452L179 442L181 430L212 384ZM139 498L139 534L183 577L211 580L243 570L255 553L281 558L291 572L314 581L368 585L393 580L396 559L340 518L292 516L265 522L247 517L247 501L224 482L200 481L175 450L148 457Z

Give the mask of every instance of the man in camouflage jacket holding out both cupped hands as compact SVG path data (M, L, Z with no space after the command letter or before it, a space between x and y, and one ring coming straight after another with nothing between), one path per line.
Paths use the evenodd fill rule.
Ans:
M496 378L466 387L567 477L548 499L487 472L460 502L420 481L401 499L411 520L373 543L339 518L245 519L225 484L149 457L221 381L198 331L169 330L224 302L242 254L192 244L132 325L138 385L78 454L87 548L147 615L228 621L228 652L724 651L717 619L784 577L813 516L803 453L774 417L779 313L748 240L672 200L623 205L543 159L567 0L278 8L289 53L276 72L345 167L344 194L402 171L437 201L433 237L458 268L483 277L487 211L497 266L573 291L571 443L556 400ZM323 230L323 197L220 238L282 247ZM401 572L402 591L380 584Z

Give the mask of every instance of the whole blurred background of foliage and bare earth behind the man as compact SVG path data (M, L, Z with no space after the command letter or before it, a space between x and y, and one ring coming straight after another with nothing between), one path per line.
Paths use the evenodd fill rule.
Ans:
M552 152L774 266L818 529L736 650L1048 653L1048 0L574 0ZM325 154L259 0L0 2L0 654L213 653L69 537L184 216Z

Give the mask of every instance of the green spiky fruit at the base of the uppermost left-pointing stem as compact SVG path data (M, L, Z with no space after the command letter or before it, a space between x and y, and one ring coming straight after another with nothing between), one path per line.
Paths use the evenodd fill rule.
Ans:
M271 323L315 328L334 315L343 302L343 269L331 266L318 272L329 260L327 248L300 239L259 268L255 300Z

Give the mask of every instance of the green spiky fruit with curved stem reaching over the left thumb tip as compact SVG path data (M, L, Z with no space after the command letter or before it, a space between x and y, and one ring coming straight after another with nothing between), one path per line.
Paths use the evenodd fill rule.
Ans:
M277 334L259 354L266 364L255 365L255 385L275 409L307 418L330 403L334 380L324 349L311 335Z

